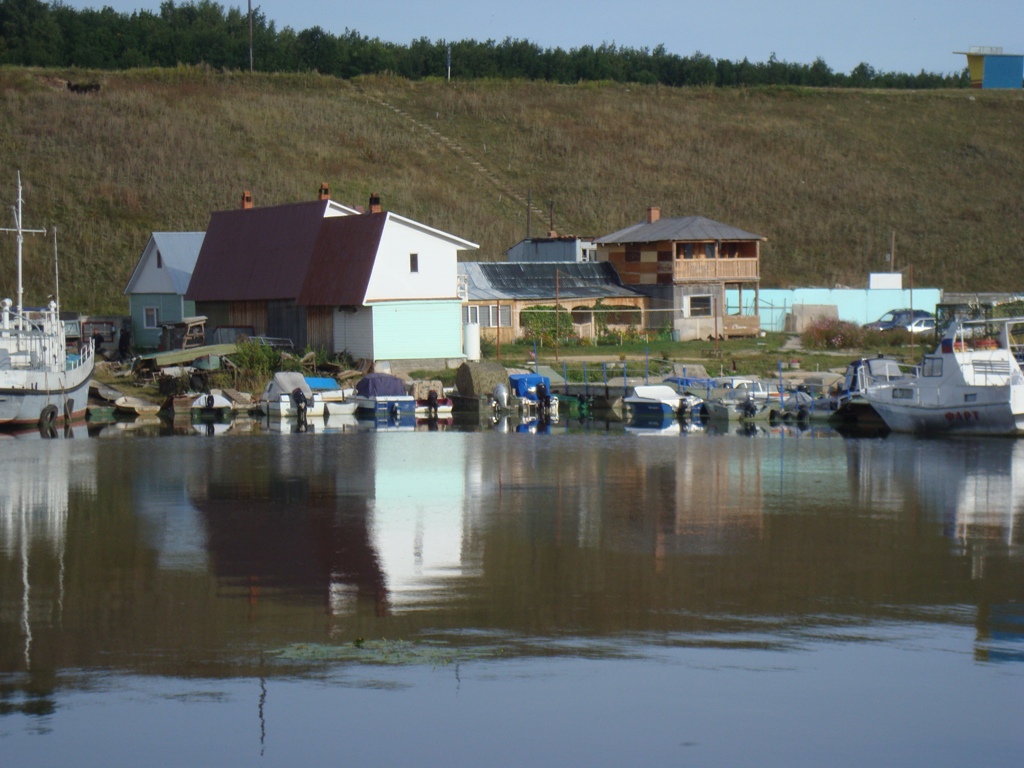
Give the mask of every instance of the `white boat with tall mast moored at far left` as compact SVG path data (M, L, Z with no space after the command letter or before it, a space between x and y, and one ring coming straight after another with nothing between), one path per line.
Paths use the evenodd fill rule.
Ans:
M0 229L17 236L17 305L0 301L0 426L52 427L58 418L85 417L95 356L88 341L77 353L68 352L58 300L36 311L23 304L23 242L25 234L43 230L22 226L20 174L14 223L12 229Z

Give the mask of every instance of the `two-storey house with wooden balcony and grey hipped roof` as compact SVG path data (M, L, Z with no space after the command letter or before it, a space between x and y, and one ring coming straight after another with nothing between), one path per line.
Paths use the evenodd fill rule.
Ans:
M761 244L766 238L703 216L662 218L647 209L643 221L598 238L597 260L608 261L623 284L650 297L652 327L671 327L680 341L756 336L761 331L758 297ZM726 290L739 302L726 304ZM751 314L742 314L744 290L754 292Z

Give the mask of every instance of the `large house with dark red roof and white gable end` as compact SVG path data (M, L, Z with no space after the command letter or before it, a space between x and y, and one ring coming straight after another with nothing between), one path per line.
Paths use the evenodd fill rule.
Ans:
M186 298L246 329L368 360L462 358L457 255L476 244L385 211L308 203L211 215Z

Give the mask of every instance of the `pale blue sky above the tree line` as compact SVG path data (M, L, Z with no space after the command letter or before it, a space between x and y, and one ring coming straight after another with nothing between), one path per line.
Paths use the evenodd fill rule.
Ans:
M160 0L63 0L77 8L159 12ZM248 9L248 0L217 0ZM185 4L183 2L178 5ZM811 63L835 72L860 62L883 72L955 73L973 45L1024 53L1024 0L253 0L276 29L346 29L395 43L425 37L528 40L542 48L664 44L670 53Z

